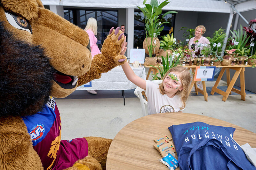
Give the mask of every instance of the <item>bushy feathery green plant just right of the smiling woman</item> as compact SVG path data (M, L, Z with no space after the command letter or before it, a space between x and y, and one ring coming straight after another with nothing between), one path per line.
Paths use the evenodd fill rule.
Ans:
M213 44L216 43L221 43L223 45L223 41L226 38L226 33L225 33L225 29L220 28L219 30L214 31L214 33L212 34L212 38L210 37L206 37L211 44L211 49L212 51L217 51L217 45L214 47ZM218 48L217 54L221 52L221 48Z

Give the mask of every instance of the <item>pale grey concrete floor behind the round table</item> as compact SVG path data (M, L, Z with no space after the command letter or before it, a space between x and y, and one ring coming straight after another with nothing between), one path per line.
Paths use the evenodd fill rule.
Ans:
M215 82L207 82L213 86ZM220 85L226 85L221 81ZM210 116L227 121L256 133L256 94L230 95L226 102L222 96L208 94L190 96L183 112ZM61 139L97 136L113 139L125 125L142 116L139 98L111 99L55 99L62 121ZM200 120L198 120L200 121Z

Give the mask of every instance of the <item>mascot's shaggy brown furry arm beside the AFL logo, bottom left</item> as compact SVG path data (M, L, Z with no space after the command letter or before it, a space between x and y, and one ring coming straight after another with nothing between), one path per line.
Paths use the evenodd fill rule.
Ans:
M43 169L20 117L1 117L0 127L0 169Z

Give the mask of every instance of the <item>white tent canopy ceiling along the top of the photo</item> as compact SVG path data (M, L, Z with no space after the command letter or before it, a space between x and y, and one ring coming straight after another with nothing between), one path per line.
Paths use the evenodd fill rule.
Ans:
M240 12L256 9L255 0L171 0L163 10L204 11L230 13L230 5L235 4ZM44 5L63 5L94 8L136 8L143 7L143 0L129 0L118 3L116 0L42 0ZM150 0L147 0L149 3ZM163 2L163 0L162 0Z

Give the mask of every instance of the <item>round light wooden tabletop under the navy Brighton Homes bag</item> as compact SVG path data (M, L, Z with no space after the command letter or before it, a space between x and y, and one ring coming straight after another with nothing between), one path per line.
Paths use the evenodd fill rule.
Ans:
M191 122L236 128L235 141L240 145L249 143L256 148L256 134L232 123L189 113L159 113L141 117L117 133L108 151L107 170L168 169L159 162L161 155L153 147L156 144L153 139L164 134L171 136L168 127L174 124Z

